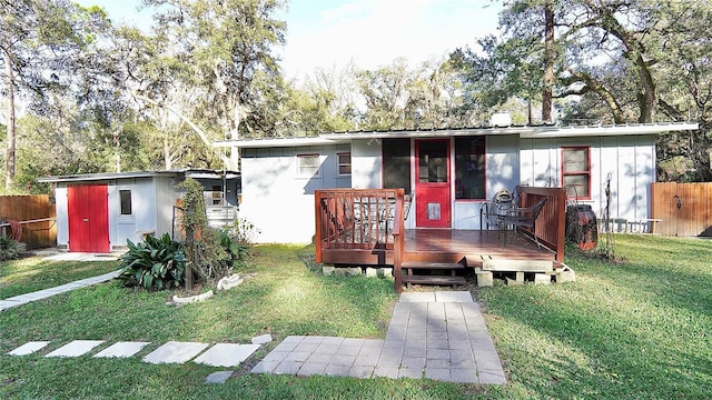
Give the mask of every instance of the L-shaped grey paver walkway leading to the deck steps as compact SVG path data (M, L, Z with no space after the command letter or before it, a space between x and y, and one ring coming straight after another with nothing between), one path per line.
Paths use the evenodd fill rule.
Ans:
M291 336L253 372L506 382L479 306L452 291L400 294L385 340Z

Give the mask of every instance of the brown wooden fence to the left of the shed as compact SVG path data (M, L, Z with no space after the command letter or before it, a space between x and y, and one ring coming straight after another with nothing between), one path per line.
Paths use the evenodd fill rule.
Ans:
M0 220L3 236L11 236L12 226L19 224L20 241L28 249L57 246L55 204L47 194L0 196Z

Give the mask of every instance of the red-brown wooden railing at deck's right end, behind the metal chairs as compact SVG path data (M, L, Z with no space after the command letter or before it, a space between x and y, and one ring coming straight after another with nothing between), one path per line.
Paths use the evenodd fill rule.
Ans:
M564 231L566 229L566 190L563 188L518 187L518 207L532 207L542 198L546 203L536 219L536 231L520 227L524 234L536 236L538 241L556 253L556 261L564 261Z

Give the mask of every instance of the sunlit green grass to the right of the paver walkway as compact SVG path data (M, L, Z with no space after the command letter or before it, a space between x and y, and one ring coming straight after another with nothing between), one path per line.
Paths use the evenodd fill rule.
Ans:
M616 237L627 261L571 254L573 284L481 292L525 397L712 397L712 242Z

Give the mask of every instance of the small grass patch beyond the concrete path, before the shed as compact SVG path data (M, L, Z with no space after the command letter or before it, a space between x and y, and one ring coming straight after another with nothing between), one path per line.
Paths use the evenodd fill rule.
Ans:
M118 268L118 261L47 261L42 257L0 261L0 299L55 288Z

